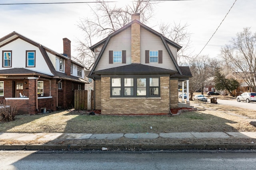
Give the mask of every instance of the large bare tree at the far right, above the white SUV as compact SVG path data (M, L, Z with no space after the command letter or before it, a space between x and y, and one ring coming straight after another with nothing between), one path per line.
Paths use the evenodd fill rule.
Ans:
M226 65L256 92L256 33L244 28L221 49L221 56Z

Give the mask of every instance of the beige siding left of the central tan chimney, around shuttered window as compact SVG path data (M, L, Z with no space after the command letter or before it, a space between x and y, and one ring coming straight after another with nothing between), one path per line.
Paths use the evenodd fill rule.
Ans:
M126 50L126 64L109 64L109 51ZM95 71L131 64L131 27L112 37L95 68Z

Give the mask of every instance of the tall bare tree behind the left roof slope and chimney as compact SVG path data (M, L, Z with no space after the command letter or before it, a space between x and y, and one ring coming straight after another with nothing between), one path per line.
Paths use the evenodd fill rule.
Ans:
M120 29L130 22L132 14L140 13L140 21L146 22L153 15L153 6L156 2L148 0L135 0L132 5L126 5L123 8L110 6L104 0L96 0L95 10L91 8L93 15L91 18L81 18L78 22L78 28L83 31L83 39L77 39L76 51L77 57L73 59L88 70L94 64L94 53L90 50L92 42L99 41L107 37L110 33Z

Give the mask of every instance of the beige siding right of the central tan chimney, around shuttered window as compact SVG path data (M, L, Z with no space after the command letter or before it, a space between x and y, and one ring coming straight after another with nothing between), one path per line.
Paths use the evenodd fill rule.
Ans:
M145 63L145 50L163 51L163 63ZM177 70L160 37L140 27L140 63L160 68Z

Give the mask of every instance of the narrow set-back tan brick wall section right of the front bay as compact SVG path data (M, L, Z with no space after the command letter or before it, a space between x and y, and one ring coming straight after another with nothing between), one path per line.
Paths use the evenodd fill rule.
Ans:
M178 108L178 79L170 80L170 108Z

